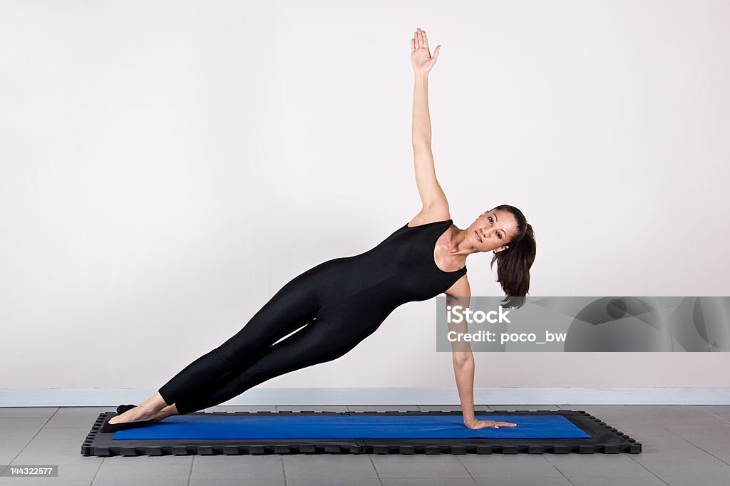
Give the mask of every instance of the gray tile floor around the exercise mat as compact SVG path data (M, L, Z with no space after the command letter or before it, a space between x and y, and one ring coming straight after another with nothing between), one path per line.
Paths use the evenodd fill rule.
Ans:
M4 485L728 485L730 406L499 405L585 410L634 437L637 455L80 455L100 412L115 407L0 408L0 464L58 465L58 477ZM481 407L480 407L481 408ZM458 406L217 406L223 410L459 410Z

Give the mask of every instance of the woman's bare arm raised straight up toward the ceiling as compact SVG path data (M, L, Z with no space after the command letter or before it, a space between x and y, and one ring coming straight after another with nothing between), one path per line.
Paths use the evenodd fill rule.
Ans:
M415 183L423 209L414 220L419 224L449 217L446 195L436 179L434 155L431 153L431 117L429 115L429 72L436 63L441 46L431 57L426 31L418 28L411 39L413 86L412 144Z

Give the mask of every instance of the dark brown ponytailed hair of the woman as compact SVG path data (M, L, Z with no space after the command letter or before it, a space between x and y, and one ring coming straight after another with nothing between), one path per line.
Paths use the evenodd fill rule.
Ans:
M525 215L516 207L501 204L492 211L509 212L517 221L515 235L509 243L505 243L505 250L494 254L489 268L492 269L497 263L496 282L504 290L503 306L520 308L530 288L530 267L535 261L537 250L535 233Z

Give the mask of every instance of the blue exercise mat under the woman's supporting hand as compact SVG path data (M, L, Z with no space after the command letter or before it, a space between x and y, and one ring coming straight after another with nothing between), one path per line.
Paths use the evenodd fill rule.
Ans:
M128 439L588 439L562 415L476 415L516 427L466 428L461 415L180 415L114 433Z

